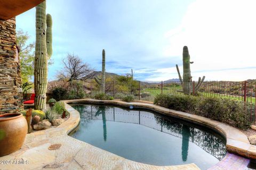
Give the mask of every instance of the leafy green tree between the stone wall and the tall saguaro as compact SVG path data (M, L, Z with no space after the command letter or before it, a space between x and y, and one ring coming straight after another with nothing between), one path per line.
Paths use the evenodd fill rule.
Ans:
M28 82L31 76L34 75L35 42L28 44L29 38L28 33L24 33L23 30L17 31L17 48L20 57L22 84Z

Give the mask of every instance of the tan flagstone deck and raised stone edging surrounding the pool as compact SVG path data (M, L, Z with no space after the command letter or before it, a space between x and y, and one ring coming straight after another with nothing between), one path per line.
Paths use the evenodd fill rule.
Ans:
M74 139L67 134L79 124L79 112L69 106L70 102L95 102L117 104L119 106L135 106L148 108L183 119L191 120L195 123L204 124L216 129L227 138L227 149L241 155L255 157L255 147L250 145L247 137L238 129L185 112L174 111L163 107L155 106L152 103L122 101L99 101L93 99L65 101L66 108L70 113L70 118L57 128L50 128L44 131L27 134L26 141L22 148L10 155L0 157L0 169L199 169L195 164L177 166L153 166L137 163L113 153L94 147L83 141ZM53 144L61 144L60 148L51 150ZM232 159L230 159L232 157ZM10 162L11 160L12 162ZM13 160L23 160L22 164L17 165ZM16 164L14 164L16 163ZM242 169L247 166L249 159L229 154L212 169L228 170ZM3 165L4 164L4 165ZM232 165L232 166L230 166Z

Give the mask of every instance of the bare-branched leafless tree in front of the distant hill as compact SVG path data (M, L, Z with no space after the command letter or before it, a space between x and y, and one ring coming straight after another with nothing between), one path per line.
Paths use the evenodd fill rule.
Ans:
M94 69L77 55L68 54L62 62L64 68L57 75L59 79L67 79L72 84L73 80L86 80L94 77Z

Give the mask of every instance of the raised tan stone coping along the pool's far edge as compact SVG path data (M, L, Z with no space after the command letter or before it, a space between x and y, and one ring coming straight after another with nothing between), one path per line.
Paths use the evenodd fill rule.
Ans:
M243 156L246 158L256 159L256 146L250 144L247 136L241 132L239 129L229 126L225 123L218 122L216 120L212 120L209 118L205 118L198 115L188 114L182 111L176 111L172 109L167 109L164 107L156 106L153 102L143 102L143 101L135 101L135 102L123 102L120 100L95 100L95 99L79 99L79 100L66 100L66 103L81 103L81 102L90 102L90 103L101 103L101 104L115 104L117 106L133 106L133 107L141 107L145 109L150 109L153 111L157 111L160 114L185 119L192 123L197 123L201 125L205 125L209 128L214 129L219 132L226 138L226 147L227 151L231 153L235 153L239 156Z

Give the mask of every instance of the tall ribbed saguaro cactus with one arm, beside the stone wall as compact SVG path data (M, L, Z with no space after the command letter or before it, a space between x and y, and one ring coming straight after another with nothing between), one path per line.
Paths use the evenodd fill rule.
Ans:
M46 26L46 23L49 25ZM50 14L47 15L46 21L46 1L44 1L36 6L36 50L34 63L35 109L42 111L46 107L47 62L52 55L51 25ZM47 33L47 31L49 32ZM47 47L49 50L47 50Z

